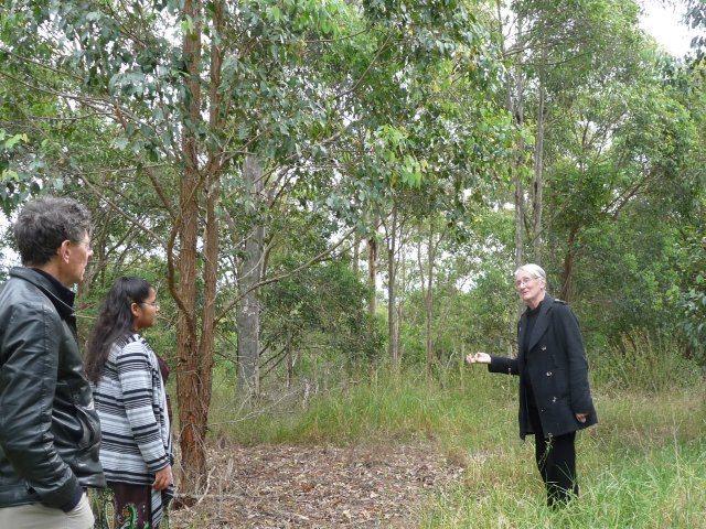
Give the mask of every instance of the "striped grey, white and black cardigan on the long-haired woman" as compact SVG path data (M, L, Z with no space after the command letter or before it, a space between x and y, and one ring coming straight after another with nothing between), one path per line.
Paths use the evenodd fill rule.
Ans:
M151 485L171 463L167 397L157 356L139 334L113 344L94 387L108 482Z

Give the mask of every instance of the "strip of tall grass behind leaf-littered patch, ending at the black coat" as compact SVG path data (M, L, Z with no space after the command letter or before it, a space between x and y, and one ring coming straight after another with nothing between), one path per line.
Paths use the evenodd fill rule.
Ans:
M381 436L470 440L479 428L489 427L480 421L484 402L496 400L499 395L503 400L512 399L516 391L510 378L499 380L480 369L459 369L443 382L427 382L424 377L387 369L366 375L364 381L361 378L357 384L349 381L320 392L306 406L299 400L302 391L292 391L279 401L270 396L260 412L234 410L233 397L216 389L212 430L240 444L346 444ZM485 420L503 424L512 420L506 413L503 410Z

